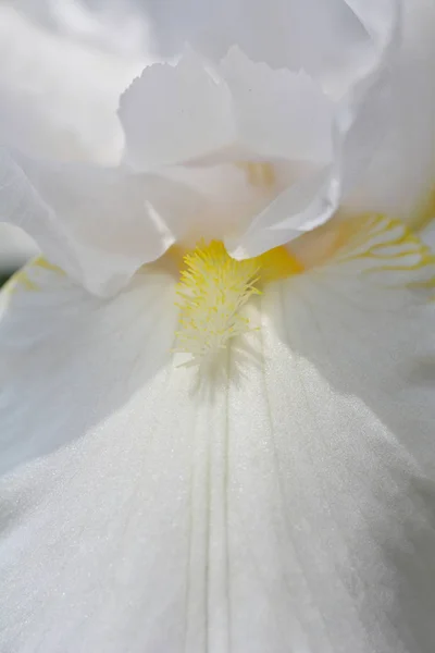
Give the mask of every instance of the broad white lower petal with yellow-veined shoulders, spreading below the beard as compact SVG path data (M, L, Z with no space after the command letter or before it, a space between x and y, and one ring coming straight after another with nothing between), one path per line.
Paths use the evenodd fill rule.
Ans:
M2 294L0 650L432 652L434 270L365 227L266 289L211 385L158 268Z

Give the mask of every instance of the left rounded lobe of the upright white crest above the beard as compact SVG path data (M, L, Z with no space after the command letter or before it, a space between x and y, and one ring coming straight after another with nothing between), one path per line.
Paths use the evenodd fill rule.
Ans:
M233 145L232 98L225 81L187 50L176 65L144 70L121 98L127 160L154 170Z

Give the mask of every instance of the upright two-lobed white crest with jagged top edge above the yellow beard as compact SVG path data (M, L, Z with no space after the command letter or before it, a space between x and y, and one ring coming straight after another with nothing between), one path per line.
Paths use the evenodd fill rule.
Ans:
M176 65L146 69L120 116L128 162L152 170L206 159L328 161L334 110L308 75L252 63L234 47L215 69L190 50Z

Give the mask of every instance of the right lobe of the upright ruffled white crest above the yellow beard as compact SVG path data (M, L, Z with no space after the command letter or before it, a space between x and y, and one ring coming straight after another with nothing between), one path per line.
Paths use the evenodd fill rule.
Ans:
M219 71L232 93L238 139L253 158L331 160L335 104L306 73L253 63L237 47Z

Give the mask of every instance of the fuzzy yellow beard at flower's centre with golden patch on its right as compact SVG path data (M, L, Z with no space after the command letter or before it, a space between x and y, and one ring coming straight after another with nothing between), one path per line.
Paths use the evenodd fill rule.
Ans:
M191 354L188 365L213 359L229 340L251 331L241 310L247 301L261 294L264 282L301 270L284 247L236 261L219 241L201 241L183 260L175 352Z

